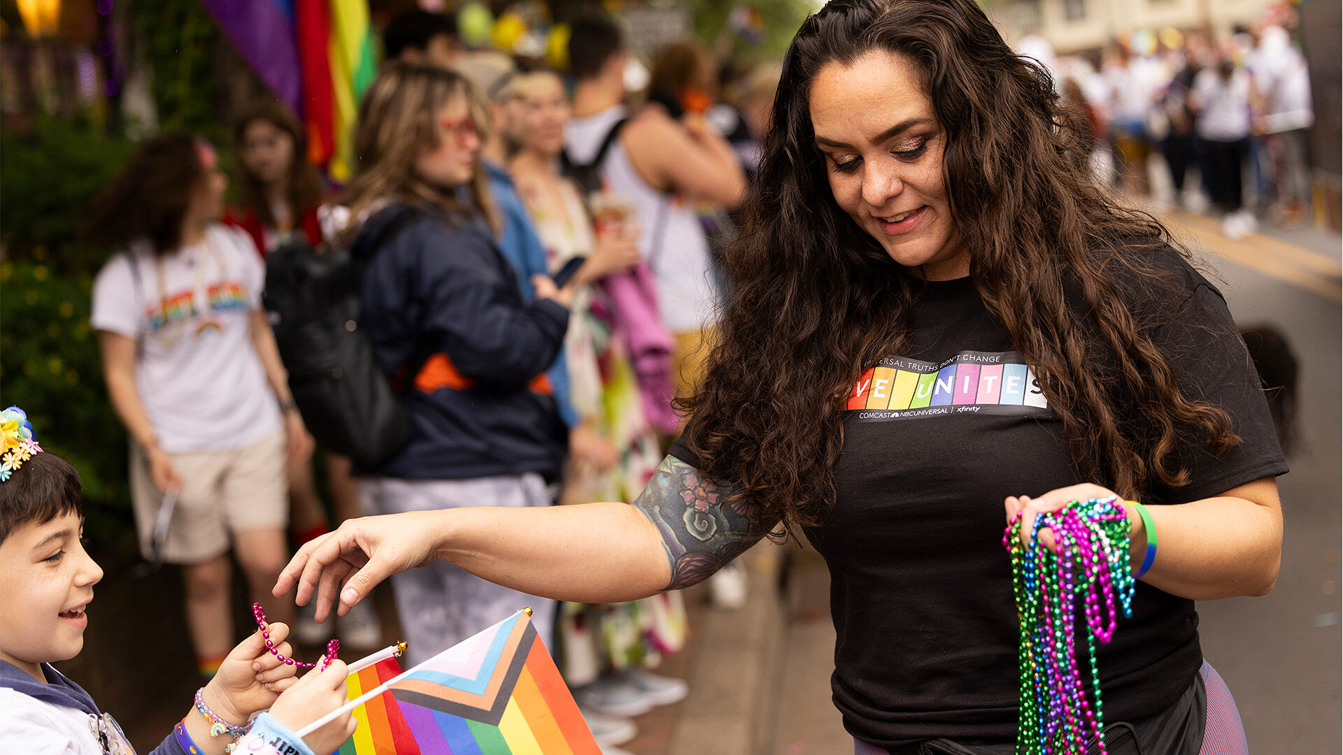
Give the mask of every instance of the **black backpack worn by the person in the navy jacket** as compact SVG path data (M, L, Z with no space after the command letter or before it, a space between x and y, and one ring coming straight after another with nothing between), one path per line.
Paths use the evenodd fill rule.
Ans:
M262 300L308 431L373 468L411 438L411 419L359 322L363 263L419 216L384 210L346 249L286 242L266 255Z

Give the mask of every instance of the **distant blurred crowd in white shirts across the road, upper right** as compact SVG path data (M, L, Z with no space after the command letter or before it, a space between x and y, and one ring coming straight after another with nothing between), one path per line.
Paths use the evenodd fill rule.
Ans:
M1300 224L1311 210L1311 79L1280 23L1236 27L1225 39L1138 32L1095 60L1056 58L1034 35L1018 48L1052 69L1081 114L1101 181L1195 212L1211 204L1238 239L1260 219ZM1156 154L1163 160L1150 161ZM1151 171L1162 165L1168 181L1158 193Z

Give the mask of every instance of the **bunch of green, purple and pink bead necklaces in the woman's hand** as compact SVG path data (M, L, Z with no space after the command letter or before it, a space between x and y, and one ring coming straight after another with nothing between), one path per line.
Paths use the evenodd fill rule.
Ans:
M1039 541L1048 527L1057 552ZM1030 532L1030 545L1021 541L1021 513L1003 533L1011 553L1013 595L1021 617L1021 720L1017 755L1085 755L1100 736L1103 717L1096 641L1115 635L1119 601L1124 617L1132 615L1133 579L1128 563L1128 517L1117 497L1070 501L1062 509L1039 515ZM1088 697L1076 637L1077 606L1085 615Z

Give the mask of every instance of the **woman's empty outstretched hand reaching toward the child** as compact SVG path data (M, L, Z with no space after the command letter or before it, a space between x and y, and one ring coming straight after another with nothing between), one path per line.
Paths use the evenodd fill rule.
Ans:
M446 510L406 512L346 520L336 532L304 543L279 574L273 592L285 595L295 584L299 606L317 598L314 617L326 621L340 592L337 613L345 615L379 582L408 568L426 566L442 547Z

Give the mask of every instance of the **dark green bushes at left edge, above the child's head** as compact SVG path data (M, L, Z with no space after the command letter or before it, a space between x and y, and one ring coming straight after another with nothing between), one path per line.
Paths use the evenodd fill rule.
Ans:
M107 253L79 240L79 222L133 149L87 118L0 132L0 406L21 407L42 446L79 469L89 536L124 552L134 548L126 438L89 326Z

